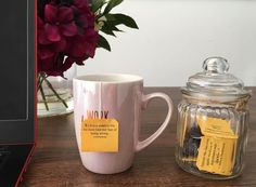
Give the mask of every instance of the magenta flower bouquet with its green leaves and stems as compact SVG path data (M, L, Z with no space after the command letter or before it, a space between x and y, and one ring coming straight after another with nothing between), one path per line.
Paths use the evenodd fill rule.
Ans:
M38 75L37 89L46 109L52 94L66 108L65 98L48 80L49 76L61 76L74 63L84 65L93 57L97 48L111 51L103 35L115 36L121 31L117 26L138 28L128 15L111 13L123 0L37 0ZM99 35L100 32L100 35ZM44 93L43 85L51 91ZM54 98L54 99L55 99ZM69 98L68 98L69 99Z

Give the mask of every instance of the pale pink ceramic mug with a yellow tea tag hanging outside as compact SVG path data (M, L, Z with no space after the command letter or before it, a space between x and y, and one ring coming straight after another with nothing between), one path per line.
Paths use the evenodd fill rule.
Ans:
M91 172L114 174L129 169L135 152L149 146L166 129L172 102L164 93L143 94L143 79L132 75L89 75L73 80L75 130L82 164ZM164 123L139 141L141 110L152 98L168 105Z

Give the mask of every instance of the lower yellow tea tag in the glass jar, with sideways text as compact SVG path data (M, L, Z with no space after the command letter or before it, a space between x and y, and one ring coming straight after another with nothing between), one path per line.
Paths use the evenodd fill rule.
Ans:
M236 139L202 136L196 166L200 171L230 176L234 166Z

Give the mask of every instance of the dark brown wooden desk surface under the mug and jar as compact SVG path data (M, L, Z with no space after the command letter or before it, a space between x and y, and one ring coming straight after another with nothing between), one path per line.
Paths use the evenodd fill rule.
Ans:
M256 88L253 89L256 93ZM175 106L181 99L177 88L150 88L149 92L165 92ZM155 101L142 115L141 138L154 132L165 118L164 102ZM35 156L21 187L256 187L256 99L251 99L249 138L246 168L232 181L209 181L183 172L175 162L177 109L165 132L146 149L138 152L128 171L116 175L99 175L87 171L76 145L73 115L40 119L39 139Z

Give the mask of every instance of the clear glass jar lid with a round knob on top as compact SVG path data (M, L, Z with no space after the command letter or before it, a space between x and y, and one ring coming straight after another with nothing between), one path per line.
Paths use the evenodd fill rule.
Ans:
M239 78L229 74L229 63L222 57L209 57L203 63L203 71L190 77L181 91L195 96L244 97L249 94Z

